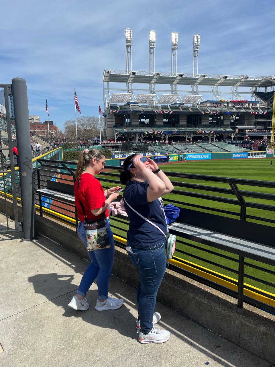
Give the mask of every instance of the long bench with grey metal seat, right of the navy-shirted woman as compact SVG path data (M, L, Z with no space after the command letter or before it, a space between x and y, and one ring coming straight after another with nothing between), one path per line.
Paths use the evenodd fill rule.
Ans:
M122 215L117 217L127 219ZM247 265L245 258L275 266L274 227L185 208L180 208L180 214L176 222L171 223L168 227L169 233L176 235L178 239L182 237L238 255L238 259L234 259L238 262L238 281L236 282L238 286L238 308L242 308L243 301L252 304L250 297L243 294L244 277L246 276L244 266ZM234 233L234 236L232 236L232 233ZM171 265L169 264L169 266ZM173 266L176 265L172 265L171 269L173 269ZM255 265L253 266L255 267ZM183 274L187 275L184 271ZM274 271L273 274L275 274ZM203 282L203 279L199 279L199 277L198 279L193 275L191 277ZM205 282L205 284L210 285L210 282ZM210 286L219 289L219 287L215 287L215 284ZM224 290L222 291L224 292ZM263 292L260 292L260 294L263 294ZM274 300L272 302L273 306L254 298L253 305L256 304L257 307L274 313L275 297L272 297L272 295L270 297Z

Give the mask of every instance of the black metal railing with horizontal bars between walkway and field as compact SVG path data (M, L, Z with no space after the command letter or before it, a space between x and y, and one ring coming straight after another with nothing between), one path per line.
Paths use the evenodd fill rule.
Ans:
M39 161L42 166L35 169L37 187L46 187L47 179L57 177L58 181L74 183L76 163L43 159ZM115 170L122 169L112 166L105 168L108 171L102 171L98 176L104 189L118 184L119 174ZM165 173L172 178L175 187L164 198L165 203L172 202L178 207L206 213L214 212L221 216L238 218L243 222L247 220L261 222L263 234L267 228L266 225L274 226L275 224L275 195L268 192L275 188L275 182L169 171ZM182 179L185 181L180 181ZM194 183L194 181L204 182ZM209 183L212 185L210 186ZM228 188L224 187L225 185ZM263 188L267 192L260 192ZM253 201L247 201L247 198ZM38 199L36 197L36 200ZM263 203L263 200L268 201L268 204ZM210 204L207 206L205 201ZM215 203L221 207L215 207ZM44 199L44 204L40 203L41 215L44 213L77 227L78 220L73 205L64 206L61 200L50 204L50 208L47 208L46 204L49 204L47 199ZM231 207L230 210L228 206ZM257 211L257 215L253 214L253 211ZM121 217L110 217L110 219L115 244L125 248L128 220ZM232 236L234 236L234 228L232 228ZM237 298L239 307L242 307L242 302L245 301L258 308L275 312L275 270L273 266L264 264L262 260L261 262L255 261L236 255L234 252L221 251L214 246L204 245L201 240L199 242L190 240L182 234L177 236L176 252L169 261L169 269Z

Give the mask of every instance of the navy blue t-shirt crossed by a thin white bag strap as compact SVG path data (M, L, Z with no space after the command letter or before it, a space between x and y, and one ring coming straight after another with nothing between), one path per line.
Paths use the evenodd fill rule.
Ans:
M148 203L147 182L128 181L123 197L143 217L156 224L167 234L167 225L162 210L161 202L156 199ZM127 240L136 246L153 246L165 240L164 235L150 223L144 221L124 202L126 213L129 217L129 230Z

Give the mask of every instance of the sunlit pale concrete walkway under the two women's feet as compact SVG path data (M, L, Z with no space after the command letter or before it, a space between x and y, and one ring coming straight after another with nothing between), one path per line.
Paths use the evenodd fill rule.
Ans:
M120 309L95 310L96 284L87 311L68 308L88 263L43 236L21 243L19 236L0 235L0 254L1 367L270 366L159 302L158 326L171 338L140 344L136 290L114 276L110 293L124 299Z

